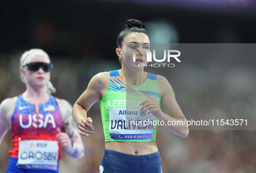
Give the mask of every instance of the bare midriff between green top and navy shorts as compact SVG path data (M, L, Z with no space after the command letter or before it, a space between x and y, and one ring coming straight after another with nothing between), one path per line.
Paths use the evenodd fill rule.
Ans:
M118 151L125 154L146 155L156 153L158 148L155 141L150 142L105 142L105 150Z

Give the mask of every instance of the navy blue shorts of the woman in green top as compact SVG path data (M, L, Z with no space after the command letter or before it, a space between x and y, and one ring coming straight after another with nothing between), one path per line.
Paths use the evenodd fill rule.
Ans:
M160 153L132 155L105 150L100 173L162 173Z

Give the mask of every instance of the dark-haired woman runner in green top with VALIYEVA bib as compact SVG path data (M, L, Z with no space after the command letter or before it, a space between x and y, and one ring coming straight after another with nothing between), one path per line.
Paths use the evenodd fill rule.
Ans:
M99 73L91 79L73 106L73 118L80 135L94 133L92 119L86 112L100 100L105 136L100 173L161 173L156 126L132 125L130 120L145 120L143 117L146 117L151 122L159 119L165 124L177 120L185 123L185 116L165 77L146 73L144 66L138 67L139 63L146 63L145 54L136 56L133 62L133 49L149 49L150 46L149 35L139 20L126 22L117 38L117 46L122 68ZM167 114L160 109L160 103ZM188 128L184 126L169 128L176 135L188 136Z

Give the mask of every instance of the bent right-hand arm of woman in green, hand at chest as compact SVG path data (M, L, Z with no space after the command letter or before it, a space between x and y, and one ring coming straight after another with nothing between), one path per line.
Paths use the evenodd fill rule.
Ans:
M144 111L149 110L149 113L151 112L160 121L164 121L165 125L168 125L174 134L186 138L189 132L188 127L186 126L186 118L178 106L172 86L165 77L160 75L157 75L157 81L161 93L161 105L166 114L162 112L158 103L150 100L145 100L142 102L142 109L146 108ZM176 121L176 124L178 125L171 125L170 123L169 125L168 121Z

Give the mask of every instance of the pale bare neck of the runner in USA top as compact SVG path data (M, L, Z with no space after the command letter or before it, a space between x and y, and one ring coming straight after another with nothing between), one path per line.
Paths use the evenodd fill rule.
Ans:
M26 84L26 91L23 93L23 98L34 104L45 103L49 100L49 93L46 91L46 86L35 89Z

